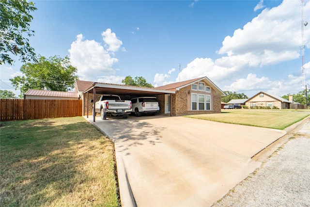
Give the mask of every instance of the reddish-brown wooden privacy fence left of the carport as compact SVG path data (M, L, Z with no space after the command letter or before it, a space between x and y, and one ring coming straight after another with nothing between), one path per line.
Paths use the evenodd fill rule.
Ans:
M82 116L82 100L0 99L0 120Z

